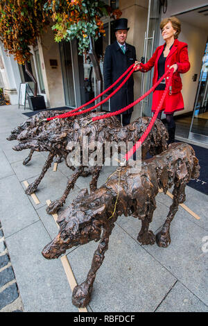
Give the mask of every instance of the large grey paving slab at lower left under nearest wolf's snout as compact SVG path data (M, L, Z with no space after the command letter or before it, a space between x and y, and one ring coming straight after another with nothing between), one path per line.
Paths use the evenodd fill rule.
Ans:
M24 311L78 311L60 259L47 260L41 254L49 241L41 221L7 239Z

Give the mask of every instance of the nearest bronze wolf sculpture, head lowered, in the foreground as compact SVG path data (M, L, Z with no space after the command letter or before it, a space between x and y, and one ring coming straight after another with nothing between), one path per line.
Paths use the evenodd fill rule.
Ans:
M130 166L123 167L120 184L119 172L116 172L94 193L88 194L87 189L80 191L78 197L58 217L58 236L42 250L45 258L54 259L73 246L100 240L85 282L73 289L73 304L86 307L89 303L96 271L103 263L109 237L118 216L124 214L141 219L141 230L137 238L141 244L152 245L155 238L160 247L170 244L171 221L178 205L185 200L184 189L187 182L191 178L198 178L199 169L193 148L189 144L175 143L169 145L164 153L142 162L138 173L132 174ZM159 189L166 192L172 186L173 203L161 232L155 237L149 230L156 208L155 197ZM119 198L112 216L118 191Z

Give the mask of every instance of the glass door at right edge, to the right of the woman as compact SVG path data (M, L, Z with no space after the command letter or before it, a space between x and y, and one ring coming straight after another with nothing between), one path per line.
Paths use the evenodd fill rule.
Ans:
M208 40L202 58L198 92L193 109L189 139L208 144Z

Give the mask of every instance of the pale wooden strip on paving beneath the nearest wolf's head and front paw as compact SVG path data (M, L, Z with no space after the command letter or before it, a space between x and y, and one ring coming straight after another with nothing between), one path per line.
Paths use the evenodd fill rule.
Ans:
M49 206L51 204L51 200L46 200L46 204ZM52 216L54 218L54 221L55 221L56 225L58 226L58 224L57 224L58 214L52 214ZM59 228L59 226L58 226L58 228ZM67 275L67 280L69 282L69 286L71 288L71 291L73 291L74 287L77 286L77 282L76 282L76 279L75 279L75 277L73 275L73 271L72 271L71 266L69 264L69 260L68 260L66 255L62 256L60 258L60 260L62 262L64 272ZM80 311L80 312L88 312L87 308L78 308L78 311Z

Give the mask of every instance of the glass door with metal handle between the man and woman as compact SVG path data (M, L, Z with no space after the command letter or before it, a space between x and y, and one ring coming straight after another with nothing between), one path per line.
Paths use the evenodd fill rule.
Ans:
M148 62L152 57L155 49L159 42L159 0L149 0L148 4L148 22L147 28L144 35L144 63ZM148 71L146 74L141 75L141 96L152 87L153 69ZM151 116L153 94L150 94L143 101L140 102L141 106L141 117Z

